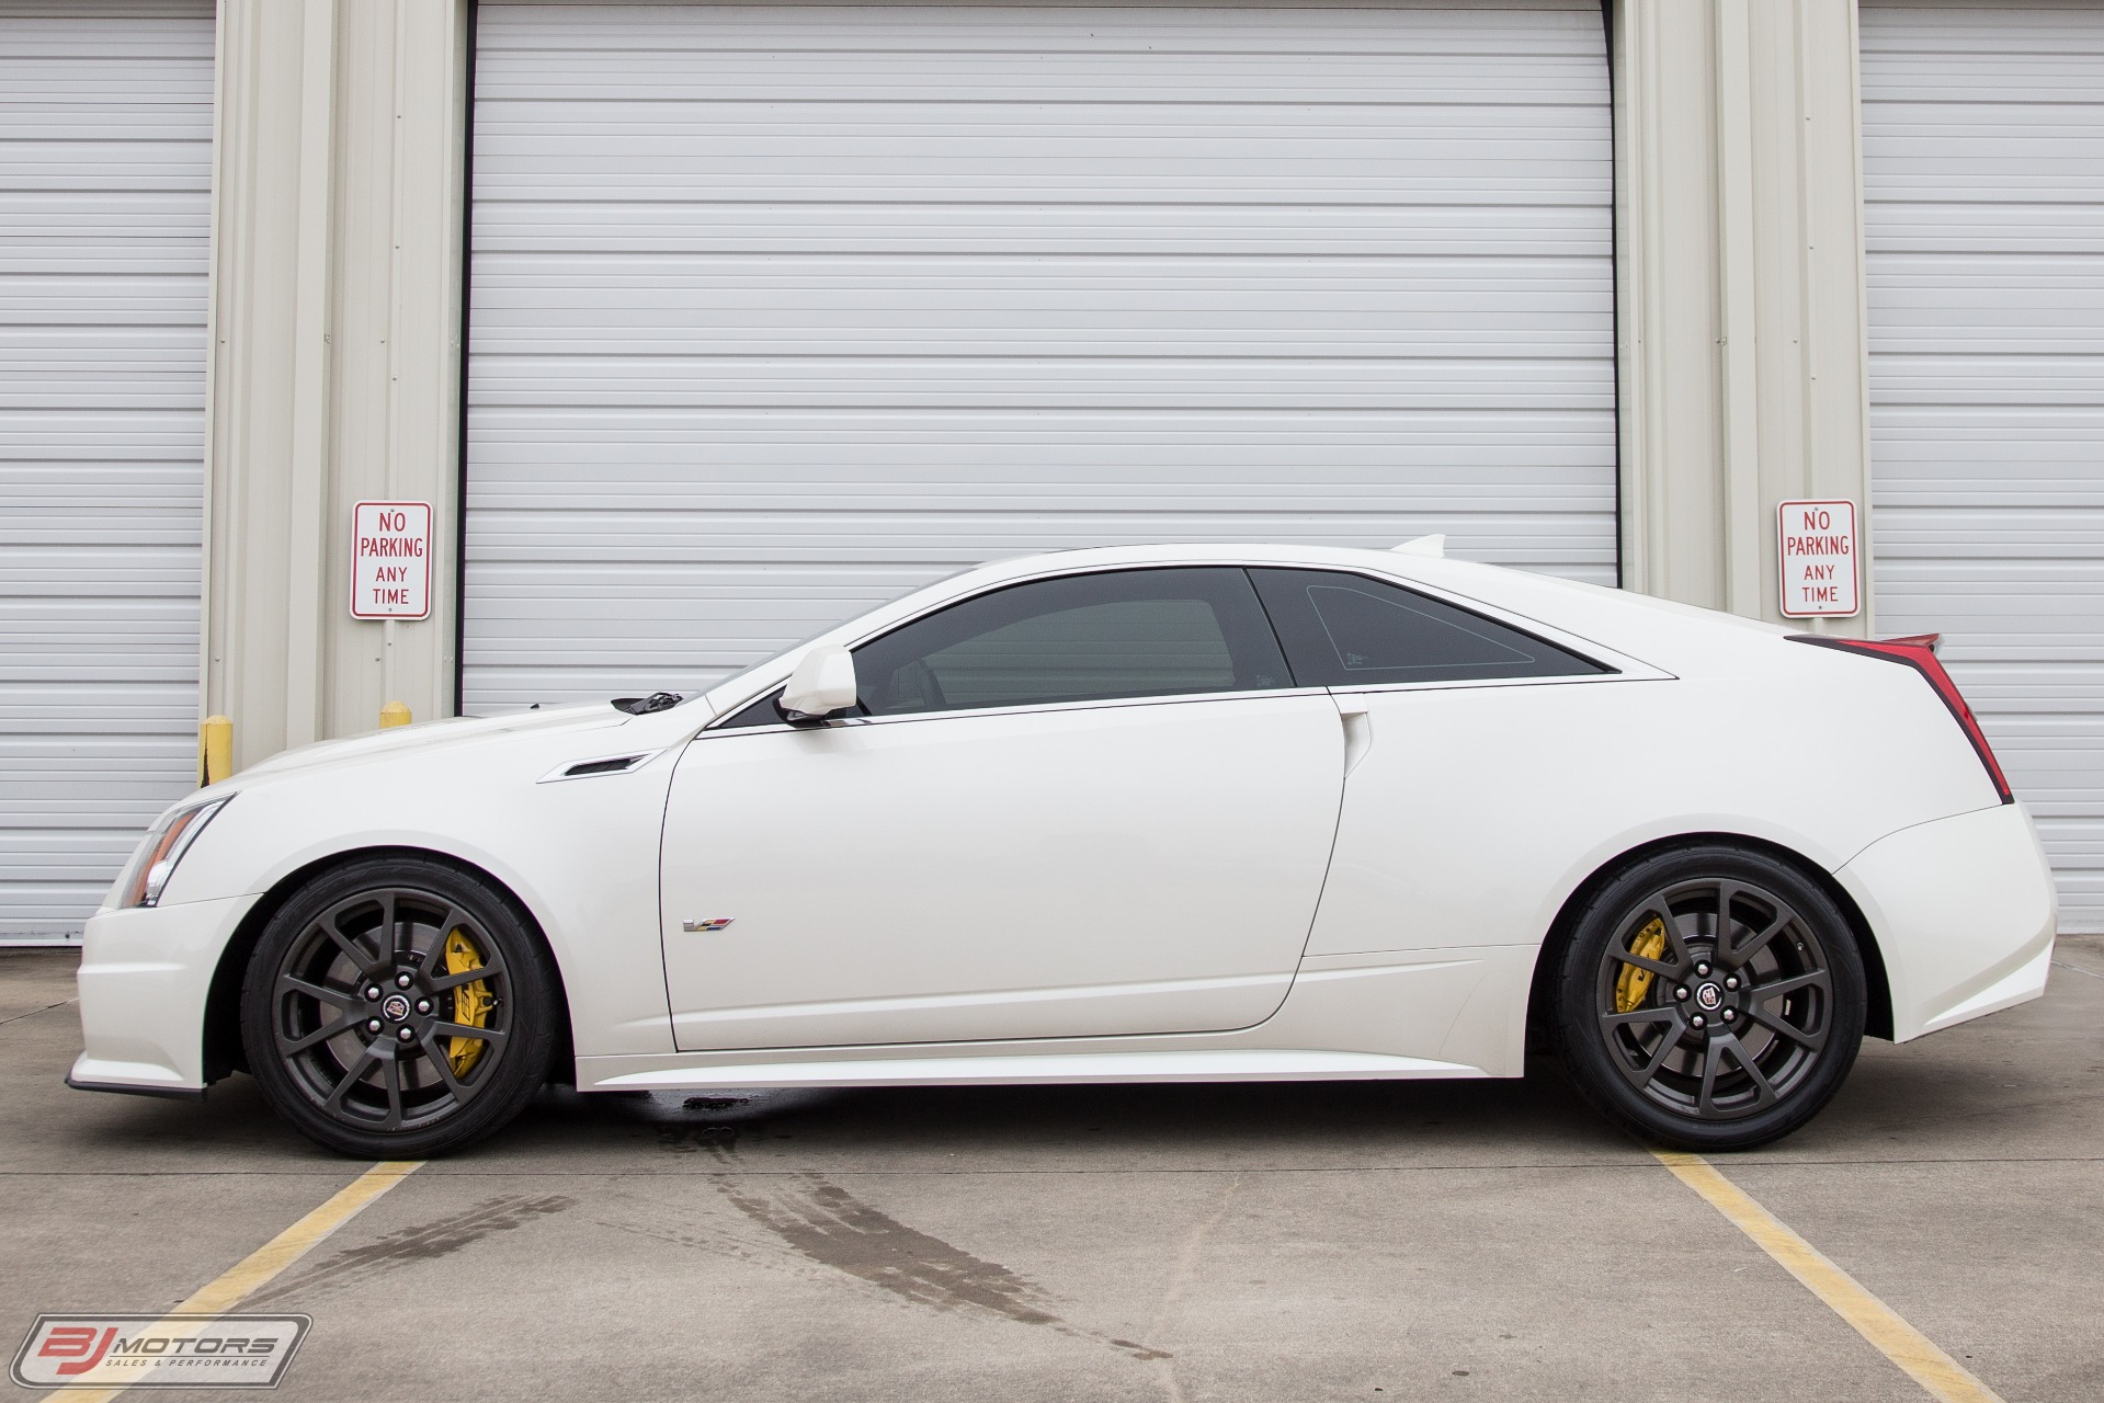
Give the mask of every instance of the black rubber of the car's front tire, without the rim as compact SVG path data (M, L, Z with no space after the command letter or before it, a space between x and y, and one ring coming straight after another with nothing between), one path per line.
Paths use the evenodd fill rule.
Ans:
M497 940L509 978L511 1037L494 1081L454 1115L408 1132L345 1125L316 1106L278 1058L271 991L292 944L324 911L375 888L429 892L467 911ZM534 923L482 877L427 858L366 858L305 881L271 915L242 976L242 1048L271 1109L303 1136L366 1159L423 1159L463 1148L511 1121L549 1075L555 1048L553 961Z

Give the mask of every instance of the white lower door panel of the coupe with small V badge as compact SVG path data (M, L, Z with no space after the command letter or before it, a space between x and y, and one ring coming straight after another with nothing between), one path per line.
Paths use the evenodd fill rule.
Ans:
M1260 1022L1307 944L1342 751L1319 692L705 734L665 814L673 1037Z

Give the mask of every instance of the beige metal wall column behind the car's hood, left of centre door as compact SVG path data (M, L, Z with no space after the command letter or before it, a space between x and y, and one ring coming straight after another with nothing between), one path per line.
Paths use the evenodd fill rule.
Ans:
M452 711L465 0L219 0L204 709L236 766ZM431 616L349 616L360 499L433 505Z

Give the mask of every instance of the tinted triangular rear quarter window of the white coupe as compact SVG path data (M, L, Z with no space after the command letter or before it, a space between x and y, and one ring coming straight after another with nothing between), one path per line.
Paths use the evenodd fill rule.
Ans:
M1300 686L1607 673L1471 610L1340 570L1250 570Z

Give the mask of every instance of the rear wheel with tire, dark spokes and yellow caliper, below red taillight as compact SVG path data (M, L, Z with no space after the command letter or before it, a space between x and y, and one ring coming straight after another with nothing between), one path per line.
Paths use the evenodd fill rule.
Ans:
M1841 1090L1864 991L1854 930L1818 883L1763 852L1702 843L1637 862L1576 913L1551 1037L1607 1119L1677 1148L1744 1151Z

